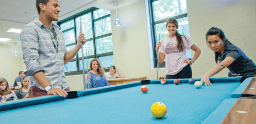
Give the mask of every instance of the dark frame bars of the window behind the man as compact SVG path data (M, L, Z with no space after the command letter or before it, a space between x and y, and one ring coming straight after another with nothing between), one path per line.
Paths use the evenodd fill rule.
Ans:
M104 16L102 16L102 17L99 17L99 18L94 19L94 13L93 13L93 12L96 11L96 10L99 10L99 8L92 7L92 8L90 8L90 9L87 9L87 10L85 10L85 11L82 11L82 12L80 12L80 13L78 13L78 14L72 15L72 16L66 18L66 19L63 19L63 20L58 21L58 22L57 22L57 25L60 27L60 24L65 23L65 22L68 22L68 21L70 21L70 20L73 20L74 27L69 28L69 29L66 29L66 30L64 30L64 31L62 31L62 32L65 33L65 32L74 30L75 43L71 43L71 44L68 44L68 45L66 44L66 47L67 47L67 46L71 46L71 45L76 45L76 44L77 44L77 37L76 37L76 36L77 36L77 31L76 31L76 28L77 28L77 27L76 27L76 22L75 22L75 20L76 20L76 18L79 18L79 17L81 17L81 16L83 16L83 15L86 15L86 14L88 14L88 13L91 13L93 38L87 39L87 41L92 41L92 40L93 40L94 55L87 56L87 58L97 58L97 57L108 56L108 55L113 55L113 56L114 56L113 52L108 52L108 53L104 53L104 54L97 54L97 53L96 53L96 40L99 39L99 38L103 38L103 37L107 37L107 36L112 36L112 32L111 32L111 33L108 33L108 34L104 34L104 35L95 37L95 32L96 32L96 31L95 31L96 28L94 27L95 22L96 22L96 21L99 21L99 20L101 20L101 19L104 19L104 18L111 17L111 15L108 14L108 15L104 15ZM65 72L65 75L66 75L66 76L83 75L82 70L79 70L79 60L82 60L82 57L78 57L78 53L77 53L77 54L76 54L76 58L74 58L74 59L72 59L72 60L70 61L70 62L76 61L76 71L68 71L68 72ZM84 58L84 60L86 60L86 58ZM88 62L88 63L90 63L90 62ZM86 63L84 63L84 64L86 64ZM104 68L104 70L105 70L106 72L108 72L108 71L109 71L109 68L110 68L110 67L106 67L106 68ZM85 69L84 71L87 73L87 69Z

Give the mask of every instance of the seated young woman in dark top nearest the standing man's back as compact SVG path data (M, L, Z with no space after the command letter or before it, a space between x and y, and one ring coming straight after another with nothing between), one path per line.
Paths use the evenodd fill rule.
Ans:
M24 76L22 78L22 89L16 92L18 99L20 100L20 99L29 98L28 90L29 90L29 78L27 76Z

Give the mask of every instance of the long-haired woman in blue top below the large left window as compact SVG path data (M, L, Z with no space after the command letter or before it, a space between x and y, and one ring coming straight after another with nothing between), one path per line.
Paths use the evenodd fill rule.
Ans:
M97 88L109 86L108 81L106 81L106 77L104 75L104 70L101 67L101 64L98 59L93 59L90 63L90 71L86 75L87 83L86 88Z

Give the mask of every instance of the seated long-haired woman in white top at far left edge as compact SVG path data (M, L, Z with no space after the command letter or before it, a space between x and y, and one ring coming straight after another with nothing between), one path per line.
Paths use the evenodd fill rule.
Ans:
M18 100L14 91L9 88L9 84L6 79L0 78L0 102Z

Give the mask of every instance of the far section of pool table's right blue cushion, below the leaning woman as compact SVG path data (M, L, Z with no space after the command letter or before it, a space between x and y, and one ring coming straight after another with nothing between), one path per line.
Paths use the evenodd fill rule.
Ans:
M239 98L239 97L241 97L241 96L242 96L242 93L244 92L245 88L248 86L248 84L250 83L250 81L251 81L252 78L253 78L253 77L245 79L245 80L243 81L243 83L242 83L236 90L234 90L234 91L231 93L231 96L232 96L233 98Z

